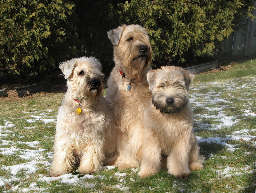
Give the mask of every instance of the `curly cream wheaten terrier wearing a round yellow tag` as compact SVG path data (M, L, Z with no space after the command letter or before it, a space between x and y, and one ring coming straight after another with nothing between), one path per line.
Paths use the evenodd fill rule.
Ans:
M93 57L60 64L68 91L59 108L50 176L92 173L115 159L116 121L103 97L102 67ZM107 160L105 159L107 157Z

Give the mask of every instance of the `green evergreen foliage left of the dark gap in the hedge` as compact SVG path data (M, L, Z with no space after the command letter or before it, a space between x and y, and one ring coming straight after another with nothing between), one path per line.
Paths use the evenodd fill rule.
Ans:
M40 72L72 54L73 8L67 0L1 0L0 67Z

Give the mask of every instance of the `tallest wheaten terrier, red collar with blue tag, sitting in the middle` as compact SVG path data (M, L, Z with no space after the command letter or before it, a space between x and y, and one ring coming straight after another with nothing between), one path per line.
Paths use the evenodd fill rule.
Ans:
M108 79L106 99L117 121L119 169L138 166L137 152L142 144L143 115L151 98L147 72L151 69L152 48L145 28L123 25L108 32L114 45L113 68Z

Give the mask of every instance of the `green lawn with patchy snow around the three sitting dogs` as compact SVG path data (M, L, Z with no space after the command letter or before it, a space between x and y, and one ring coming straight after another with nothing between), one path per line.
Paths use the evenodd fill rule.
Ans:
M4 185L0 187L0 192L255 192L256 139L242 139L242 135L256 136L256 117L245 112L256 112L255 78L255 59L237 60L227 71L196 75L189 92L195 114L196 136L224 140L222 143L212 141L199 144L200 153L206 157L204 169L192 171L186 180L175 178L168 174L166 169L141 179L137 175L139 169L118 171L114 168L96 172L93 179L85 179L84 175L78 174L74 169L69 178L76 179L76 182L61 182L61 179L47 182L45 180L48 179L52 159L55 121L45 124L42 119L36 120L33 116L56 119L64 93L38 93L27 98L2 98L0 183L3 182ZM233 133L240 130L247 131L243 134ZM241 139L228 140L229 135L239 135ZM3 140L12 143L4 144ZM29 146L20 143L33 141L40 144ZM228 145L237 146L230 152ZM1 153L4 151L2 148L12 147L17 151L10 150L10 154L4 155ZM23 168L14 175L13 169L4 169L30 162L35 162L34 172ZM125 175L120 177L116 173Z

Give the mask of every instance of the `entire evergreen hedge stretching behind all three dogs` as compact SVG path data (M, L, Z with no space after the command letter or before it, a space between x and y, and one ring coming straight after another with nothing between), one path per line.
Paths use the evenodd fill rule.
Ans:
M107 31L144 26L154 67L184 65L211 53L247 17L250 0L0 0L0 68L45 72L75 56L95 56L108 76Z

